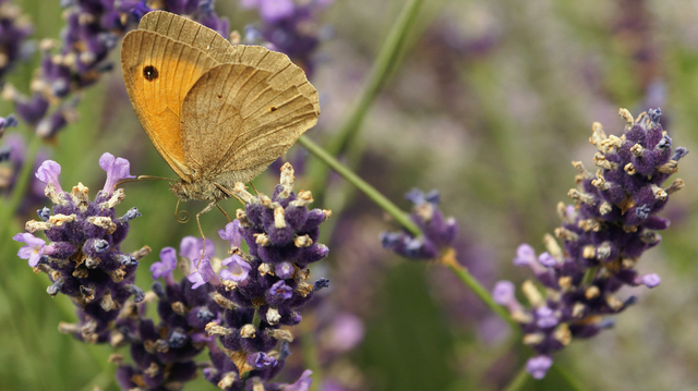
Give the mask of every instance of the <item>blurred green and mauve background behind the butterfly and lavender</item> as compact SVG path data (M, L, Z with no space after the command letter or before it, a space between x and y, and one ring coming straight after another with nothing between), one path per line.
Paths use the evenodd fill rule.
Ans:
M58 38L64 25L58 1L15 1L34 24L31 39ZM311 82L322 115L306 135L326 145L348 120L365 87L380 48L405 1L335 0L317 12L311 27L320 39ZM216 3L231 28L243 34L258 23L256 10L237 1ZM663 242L638 266L657 272L662 284L639 295L639 303L616 318L610 331L573 343L554 359L589 390L698 390L698 1L588 0L424 1L373 106L360 126L348 164L405 210L412 187L437 188L441 208L457 219L458 260L491 289L497 280L517 285L532 274L512 259L521 243L543 251L542 237L558 227L555 206L570 203L575 169L592 168L591 123L621 135L618 108L635 115L661 107L662 124L674 146L694 151L675 175L686 182L662 212L672 225ZM120 44L119 44L120 45ZM82 182L91 195L104 185L99 156L109 151L131 161L132 174L173 178L133 113L119 66L85 89L77 120L46 143L40 158L58 161L60 182ZM28 91L38 56L4 78ZM0 103L0 115L12 105ZM0 144L33 137L20 126ZM284 159L297 169L297 190L314 158L300 146ZM3 172L12 172L3 163ZM274 166L255 180L270 193ZM179 247L197 235L195 222L173 218L176 197L165 182L125 184L121 212L136 206L124 251L144 245L153 254L141 261L137 284L164 246ZM39 194L43 186L39 186ZM486 309L448 270L408 261L382 248L380 233L397 225L339 176L330 176L314 207L333 209L323 240L330 248L313 276L330 289L303 313L300 335L286 368L296 379L313 367L312 390L498 390L528 358L506 323ZM7 196L8 192L3 195ZM27 195L22 216L1 224L13 235L48 199ZM203 203L181 205L196 213ZM222 203L228 212L239 204ZM119 211L118 211L119 213ZM214 211L202 218L204 232L226 223ZM34 274L15 254L20 244L3 237L0 261L0 389L116 390L113 353L106 345L79 343L58 332L75 321L65 296L51 298L45 274ZM220 246L219 246L220 247ZM222 248L222 247L220 247ZM128 352L120 352L128 355ZM205 357L202 357L205 359ZM310 362L309 362L310 361ZM555 371L529 390L561 390ZM185 389L213 389L203 379Z

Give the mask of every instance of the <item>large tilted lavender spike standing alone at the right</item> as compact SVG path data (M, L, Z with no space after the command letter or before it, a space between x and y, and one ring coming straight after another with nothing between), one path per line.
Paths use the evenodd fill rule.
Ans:
M537 354L527 365L537 379L545 376L554 352L574 338L590 338L612 327L604 317L637 302L636 296L616 296L623 286L651 289L661 282L658 274L640 274L635 267L645 251L660 243L657 231L669 227L669 220L657 213L684 182L661 185L688 151L682 147L672 151L672 139L659 123L661 110L637 119L625 109L619 114L627 123L621 137L606 136L599 123L592 126L590 142L599 148L597 172L573 162L579 171L578 188L568 193L575 205L561 203L557 208L563 223L555 229L555 237L563 247L546 235L547 252L540 256L528 244L517 251L514 264L530 268L543 288L524 282L530 307L517 302L508 281L498 282L493 291L494 300L520 325L524 343Z

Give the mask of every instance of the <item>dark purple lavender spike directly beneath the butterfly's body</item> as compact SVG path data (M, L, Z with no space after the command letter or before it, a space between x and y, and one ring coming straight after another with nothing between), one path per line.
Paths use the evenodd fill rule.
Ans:
M253 196L242 183L232 190L246 204L244 210L237 211L237 221L220 231L233 247L232 255L222 260L221 279L215 286L216 303L226 309L221 319L206 325L207 332L218 335L228 353L212 354L214 368L204 372L209 382L224 384L225 389L258 384L270 390L308 390L310 386L310 372L294 384L269 382L288 356L284 344L292 340L281 326L301 321L299 309L316 290L306 282L306 267L327 255L327 247L316 241L318 227L329 211L308 210L312 195L296 194L293 180L293 169L287 163L272 197ZM238 235L246 242L250 254L240 251ZM194 286L200 285L198 281L193 281Z

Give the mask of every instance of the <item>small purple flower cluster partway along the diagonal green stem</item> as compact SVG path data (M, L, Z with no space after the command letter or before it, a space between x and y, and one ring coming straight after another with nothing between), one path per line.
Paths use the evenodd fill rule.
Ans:
M434 190L424 193L412 188L405 198L413 204L410 217L424 235L413 237L407 231L383 232L383 247L411 259L433 259L444 249L452 247L458 234L458 223L452 217L444 218L438 209L438 192Z

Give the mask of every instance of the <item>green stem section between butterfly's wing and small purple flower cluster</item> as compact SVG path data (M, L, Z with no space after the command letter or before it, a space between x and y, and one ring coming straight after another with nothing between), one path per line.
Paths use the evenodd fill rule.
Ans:
M400 208L398 208L395 204L393 204L387 197L376 191L373 186L371 186L366 181L362 180L353 173L351 170L342 166L337 159L335 159L332 155L329 155L326 150L324 150L321 146L315 144L313 140L305 136L301 136L298 142L305 147L311 154L313 154L316 158L322 160L325 164L327 164L333 170L337 171L345 180L347 180L352 185L357 186L360 191L363 192L369 198L373 199L381 208L383 208L388 215L390 215L398 223L400 223L407 231L409 231L414 236L421 236L422 231L417 227L412 220Z

